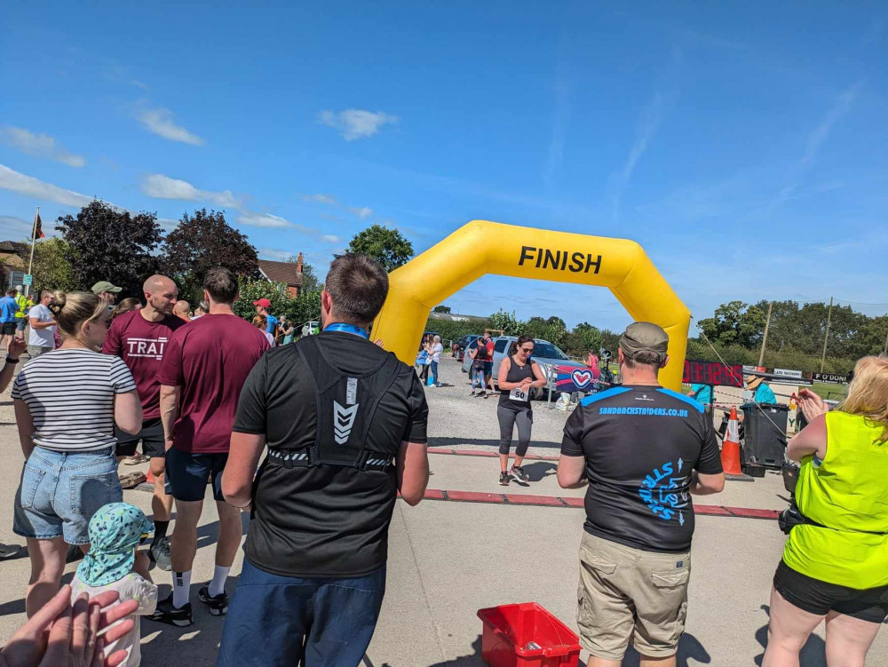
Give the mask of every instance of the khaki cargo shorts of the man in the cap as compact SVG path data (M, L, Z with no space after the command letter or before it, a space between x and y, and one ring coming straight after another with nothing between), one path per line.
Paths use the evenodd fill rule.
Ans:
M641 655L674 655L685 631L690 576L690 552L643 552L583 533L576 593L583 648L621 660L632 640Z

